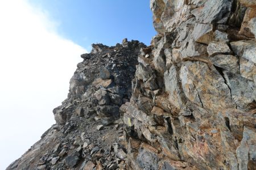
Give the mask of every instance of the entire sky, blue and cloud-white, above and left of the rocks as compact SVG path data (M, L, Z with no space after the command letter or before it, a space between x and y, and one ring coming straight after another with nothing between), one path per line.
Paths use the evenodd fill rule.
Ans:
M0 169L51 125L80 54L123 38L149 45L149 0L0 1Z

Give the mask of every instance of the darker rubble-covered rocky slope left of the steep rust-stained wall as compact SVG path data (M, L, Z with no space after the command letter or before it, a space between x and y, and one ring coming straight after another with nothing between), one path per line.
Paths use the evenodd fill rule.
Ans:
M56 125L7 169L116 169L124 166L119 107L130 100L139 41L93 44L70 80L68 98L53 109Z

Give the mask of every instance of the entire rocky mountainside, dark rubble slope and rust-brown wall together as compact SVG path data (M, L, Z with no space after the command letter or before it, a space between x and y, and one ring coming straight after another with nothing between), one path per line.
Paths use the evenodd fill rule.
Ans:
M7 169L256 169L256 1L150 8L151 45L93 44L56 124Z

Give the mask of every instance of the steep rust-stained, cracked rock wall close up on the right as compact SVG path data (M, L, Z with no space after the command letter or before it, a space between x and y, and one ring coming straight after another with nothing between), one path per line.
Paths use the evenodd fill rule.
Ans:
M151 0L122 105L130 169L255 169L256 1Z

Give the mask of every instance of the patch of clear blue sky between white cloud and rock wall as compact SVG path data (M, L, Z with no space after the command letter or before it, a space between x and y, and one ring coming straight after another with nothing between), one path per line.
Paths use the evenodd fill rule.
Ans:
M127 37L149 45L155 30L149 0L30 0L48 12L57 32L88 49L92 43L115 45Z

